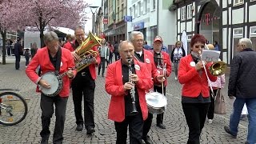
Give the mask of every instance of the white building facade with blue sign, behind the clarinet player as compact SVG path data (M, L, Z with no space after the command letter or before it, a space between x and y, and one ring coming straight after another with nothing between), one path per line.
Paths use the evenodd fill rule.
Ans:
M127 3L128 15L132 22L127 22L127 34L141 31L145 41L153 44L155 36L160 35L165 46L174 44L176 39L175 11L169 11L170 0L133 0Z

